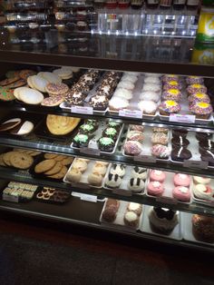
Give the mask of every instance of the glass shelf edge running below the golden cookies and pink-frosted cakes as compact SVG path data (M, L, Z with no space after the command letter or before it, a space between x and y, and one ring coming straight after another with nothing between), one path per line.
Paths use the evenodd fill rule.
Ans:
M0 179L6 181L14 181L14 182L25 182L31 183L39 186L48 186L53 188L58 188L62 190L70 190L73 192L86 193L91 195L96 195L102 198L112 198L123 201L133 201L141 204L151 205L155 207L163 207L170 208L172 210L185 211L190 213L198 213L198 214L206 214L207 216L214 216L214 207L197 204L192 202L191 204L184 203L170 203L167 201L155 200L146 195L132 194L131 196L127 196L125 194L117 194L107 189L98 189L98 188L83 188L83 187L75 187L71 186L68 183L64 182L55 182L53 180L44 180L44 179L35 179L28 172L25 171L16 171L14 169L8 169L4 167L0 167Z

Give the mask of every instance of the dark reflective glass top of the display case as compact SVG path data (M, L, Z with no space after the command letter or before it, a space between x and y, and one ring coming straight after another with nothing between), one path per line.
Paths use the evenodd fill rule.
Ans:
M192 38L56 31L44 34L44 38L35 41L35 37L19 39L15 34L2 30L0 60L22 64L72 64L107 70L213 76L213 46L197 45Z

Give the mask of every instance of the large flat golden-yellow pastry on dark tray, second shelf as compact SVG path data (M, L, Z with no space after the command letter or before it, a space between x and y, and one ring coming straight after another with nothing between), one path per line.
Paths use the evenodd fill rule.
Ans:
M80 121L80 118L48 114L46 125L50 133L53 133L54 135L64 135L71 133Z

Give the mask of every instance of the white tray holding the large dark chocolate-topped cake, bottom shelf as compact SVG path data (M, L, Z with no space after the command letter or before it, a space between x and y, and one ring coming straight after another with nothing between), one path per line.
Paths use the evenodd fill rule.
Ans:
M150 233L153 235L157 235L160 237L168 238L171 240L181 241L182 240L182 226L181 226L180 212L178 212L179 223L175 226L174 230L171 231L170 234L164 234L164 233L158 233L158 232L151 230L151 224L148 218L148 214L152 208L153 207L151 206L143 206L143 218L142 218L140 231Z

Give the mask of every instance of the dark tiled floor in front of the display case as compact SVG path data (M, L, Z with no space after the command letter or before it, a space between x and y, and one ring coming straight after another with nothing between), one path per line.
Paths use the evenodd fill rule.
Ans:
M186 270L177 270L171 265L169 256L165 258L155 251L136 250L118 244L111 246L111 243L106 246L106 242L79 240L73 235L66 235L70 241L63 243L62 240L53 241L53 232L46 231L45 236L44 230L45 239L38 239L34 238L34 231L26 236L24 229L21 233L1 231L1 285L214 284L213 276L207 276L206 272L203 274L203 270L194 270L194 267L192 270L189 260L183 260ZM48 234L51 241L48 241ZM120 253L114 254L116 248ZM201 266L204 266L202 262Z

